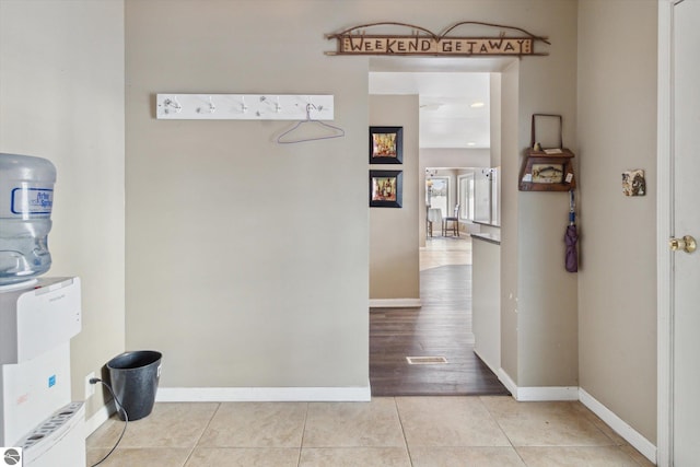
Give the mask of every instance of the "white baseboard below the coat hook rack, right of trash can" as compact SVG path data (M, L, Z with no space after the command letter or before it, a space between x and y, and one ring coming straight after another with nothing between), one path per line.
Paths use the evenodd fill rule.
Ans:
M362 387L161 387L156 402L368 402Z

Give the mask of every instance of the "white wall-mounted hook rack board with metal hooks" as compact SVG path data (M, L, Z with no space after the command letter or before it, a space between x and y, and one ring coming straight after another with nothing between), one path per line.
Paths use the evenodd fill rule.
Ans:
M156 94L164 120L332 120L329 94Z

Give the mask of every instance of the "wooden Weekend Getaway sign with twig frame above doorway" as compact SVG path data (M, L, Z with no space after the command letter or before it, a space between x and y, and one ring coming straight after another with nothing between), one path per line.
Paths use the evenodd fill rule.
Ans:
M485 37L450 36L458 26L481 26L499 30L499 34ZM411 30L411 34L386 35L366 34L370 27L399 26ZM518 36L508 37L504 30L515 31ZM463 21L442 34L434 34L420 26L404 23L373 23L351 27L337 34L327 34L327 39L336 39L337 49L326 55L425 55L425 56L542 56L535 50L537 43L550 44L546 37L535 36L525 30L513 26Z

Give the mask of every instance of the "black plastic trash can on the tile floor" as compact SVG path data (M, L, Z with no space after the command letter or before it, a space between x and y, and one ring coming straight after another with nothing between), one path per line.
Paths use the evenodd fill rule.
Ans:
M129 421L142 419L153 410L162 358L161 352L138 350L124 352L107 362L112 389ZM117 412L124 420L121 410Z

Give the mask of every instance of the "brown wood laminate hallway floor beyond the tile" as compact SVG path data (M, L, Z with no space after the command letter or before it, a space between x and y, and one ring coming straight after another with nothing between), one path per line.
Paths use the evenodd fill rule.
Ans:
M372 395L510 394L474 353L470 237L428 238L420 264L420 308L370 310ZM447 363L409 364L407 357Z

